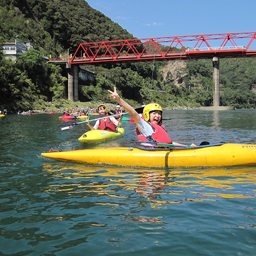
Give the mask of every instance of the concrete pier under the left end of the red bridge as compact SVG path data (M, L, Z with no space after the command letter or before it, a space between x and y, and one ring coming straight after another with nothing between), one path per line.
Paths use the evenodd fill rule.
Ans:
M78 69L77 65L66 65L68 69L68 86L67 93L68 99L71 101L78 101Z

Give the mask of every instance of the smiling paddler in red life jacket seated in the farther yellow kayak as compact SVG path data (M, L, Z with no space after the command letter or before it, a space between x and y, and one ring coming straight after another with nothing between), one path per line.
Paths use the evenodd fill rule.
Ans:
M104 119L97 120L95 125L90 125L89 121L87 120L86 124L90 127L90 130L105 130L110 132L116 132L117 127L119 127L122 123L122 114L120 114L119 121L116 120L115 117L107 117L107 107L104 104L100 104L98 106L98 113L101 115L101 117L106 117Z

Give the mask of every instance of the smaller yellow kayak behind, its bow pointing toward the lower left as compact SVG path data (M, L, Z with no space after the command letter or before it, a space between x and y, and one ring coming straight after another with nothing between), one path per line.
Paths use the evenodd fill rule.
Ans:
M117 132L109 132L103 130L90 130L83 134L78 140L84 143L97 143L105 142L109 140L115 140L123 137L124 129L122 127L117 128Z

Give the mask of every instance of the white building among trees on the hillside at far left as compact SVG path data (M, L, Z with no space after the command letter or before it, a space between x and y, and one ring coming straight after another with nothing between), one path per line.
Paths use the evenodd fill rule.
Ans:
M32 43L22 43L15 40L14 43L4 43L3 51L5 59L16 60L17 55L24 54L27 50L33 48Z

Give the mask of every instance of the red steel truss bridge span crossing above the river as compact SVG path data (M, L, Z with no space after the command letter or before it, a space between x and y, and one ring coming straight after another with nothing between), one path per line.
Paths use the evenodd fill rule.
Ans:
M256 32L82 43L68 62L69 64L94 64L211 59L213 57L256 57Z

